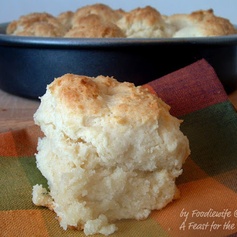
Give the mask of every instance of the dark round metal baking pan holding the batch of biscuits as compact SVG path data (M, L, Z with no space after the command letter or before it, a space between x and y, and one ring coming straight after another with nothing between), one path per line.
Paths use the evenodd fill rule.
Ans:
M200 38L45 38L6 35L0 24L0 88L38 99L65 73L142 85L205 58L227 93L237 88L237 35Z

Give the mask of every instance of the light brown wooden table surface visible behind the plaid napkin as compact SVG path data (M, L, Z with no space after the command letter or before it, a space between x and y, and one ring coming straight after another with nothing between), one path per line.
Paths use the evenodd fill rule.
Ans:
M237 90L229 95L229 99L237 108ZM33 125L33 114L39 104L39 101L11 95L0 90L0 132Z

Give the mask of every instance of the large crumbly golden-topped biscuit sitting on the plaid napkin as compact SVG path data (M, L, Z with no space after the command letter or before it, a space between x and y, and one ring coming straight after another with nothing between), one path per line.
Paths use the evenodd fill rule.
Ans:
M181 120L142 86L108 76L65 74L47 86L34 115L37 167L48 181L33 202L60 226L109 235L121 219L146 219L177 197L190 154Z

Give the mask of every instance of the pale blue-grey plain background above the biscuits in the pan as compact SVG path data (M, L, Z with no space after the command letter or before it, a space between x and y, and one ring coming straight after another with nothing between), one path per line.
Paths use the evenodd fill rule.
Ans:
M4 3L3 3L4 2ZM215 15L228 18L233 24L237 24L237 0L2 0L0 6L0 23L9 22L32 12L48 12L53 15L77 8L94 4L104 3L112 8L132 10L136 7L150 5L155 7L161 14L191 13L196 10L212 8Z

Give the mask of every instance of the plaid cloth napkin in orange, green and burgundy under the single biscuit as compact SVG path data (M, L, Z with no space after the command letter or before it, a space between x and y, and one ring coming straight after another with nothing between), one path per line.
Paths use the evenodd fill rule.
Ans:
M237 232L237 114L215 71L199 60L146 85L183 119L191 156L177 179L180 199L147 220L121 220L111 236L231 236ZM59 227L55 214L31 201L46 180L34 154L37 126L0 134L0 236L84 236ZM100 236L100 235L96 235ZM234 235L233 235L234 236Z

